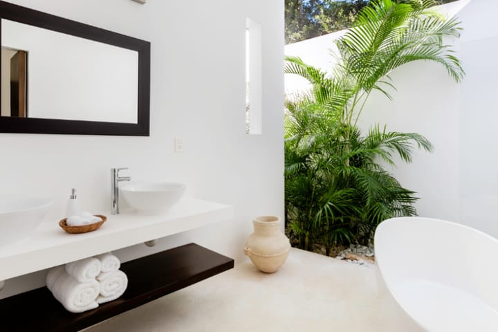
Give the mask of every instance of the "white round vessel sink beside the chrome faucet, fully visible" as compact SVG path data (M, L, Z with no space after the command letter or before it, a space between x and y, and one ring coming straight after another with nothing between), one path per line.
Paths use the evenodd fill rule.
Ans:
M185 184L130 183L121 188L122 197L132 208L147 214L160 214L181 201Z

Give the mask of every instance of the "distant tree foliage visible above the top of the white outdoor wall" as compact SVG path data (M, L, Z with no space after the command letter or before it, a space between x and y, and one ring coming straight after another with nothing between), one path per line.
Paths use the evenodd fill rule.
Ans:
M438 4L456 0L436 1ZM369 0L285 0L286 44L350 28Z

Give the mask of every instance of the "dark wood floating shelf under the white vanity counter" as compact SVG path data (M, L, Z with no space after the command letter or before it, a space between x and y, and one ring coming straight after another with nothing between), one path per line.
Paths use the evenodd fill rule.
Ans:
M122 264L127 291L91 311L69 313L46 287L1 299L1 331L80 331L233 267L233 259L190 243Z

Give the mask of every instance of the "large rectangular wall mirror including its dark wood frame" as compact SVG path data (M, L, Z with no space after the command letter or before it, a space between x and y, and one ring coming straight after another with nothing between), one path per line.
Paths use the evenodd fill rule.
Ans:
M149 135L149 42L4 1L0 24L0 132Z

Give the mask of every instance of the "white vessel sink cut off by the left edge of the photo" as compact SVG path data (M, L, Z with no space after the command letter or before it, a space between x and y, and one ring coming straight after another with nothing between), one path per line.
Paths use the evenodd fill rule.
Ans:
M46 216L50 199L0 199L0 246L28 237Z

